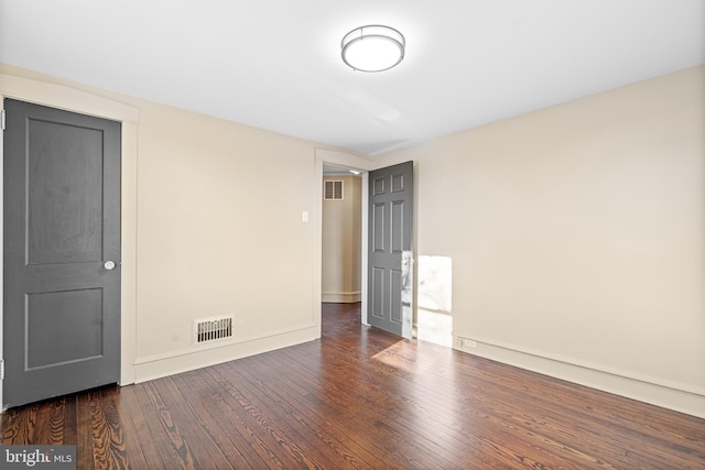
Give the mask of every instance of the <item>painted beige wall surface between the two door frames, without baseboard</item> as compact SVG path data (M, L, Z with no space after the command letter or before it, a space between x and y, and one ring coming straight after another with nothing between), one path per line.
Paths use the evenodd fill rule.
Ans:
M314 325L314 149L141 103L138 362L193 350L195 318L235 316L236 341Z

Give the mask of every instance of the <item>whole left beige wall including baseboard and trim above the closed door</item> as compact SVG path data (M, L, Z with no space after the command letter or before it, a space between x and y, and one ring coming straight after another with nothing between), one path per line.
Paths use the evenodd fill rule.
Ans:
M132 121L122 383L319 336L316 225L302 217L319 204L313 143L9 66L0 92ZM235 317L234 340L194 347L194 320L220 315Z

